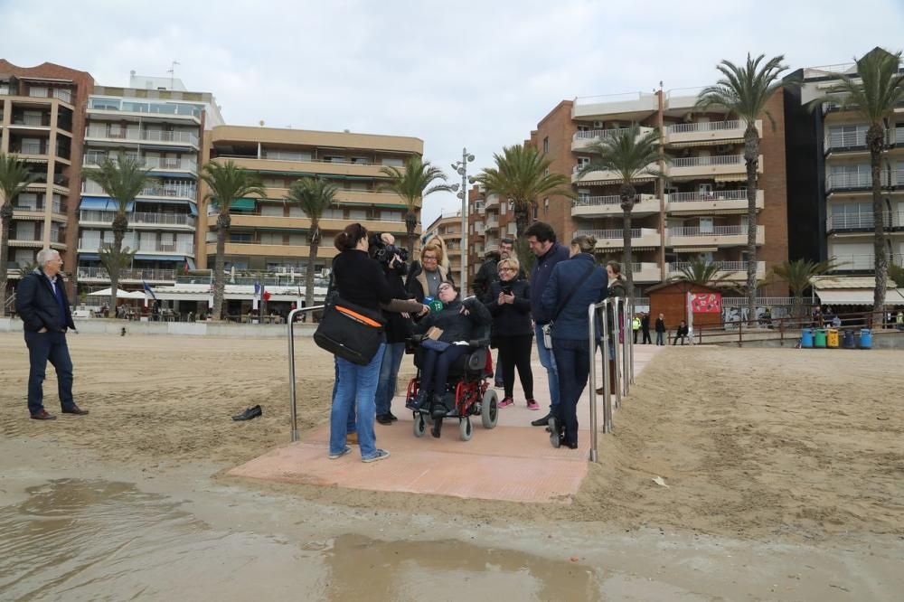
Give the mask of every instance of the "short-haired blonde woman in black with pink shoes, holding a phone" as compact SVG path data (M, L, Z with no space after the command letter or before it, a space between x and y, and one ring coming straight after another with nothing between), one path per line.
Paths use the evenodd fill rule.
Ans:
M499 364L503 371L505 397L499 407L514 403L514 369L517 366L528 409L540 409L533 399L531 285L518 277L519 268L518 259L499 262L500 279L490 285L491 301L486 306L493 315L493 342L499 349Z

